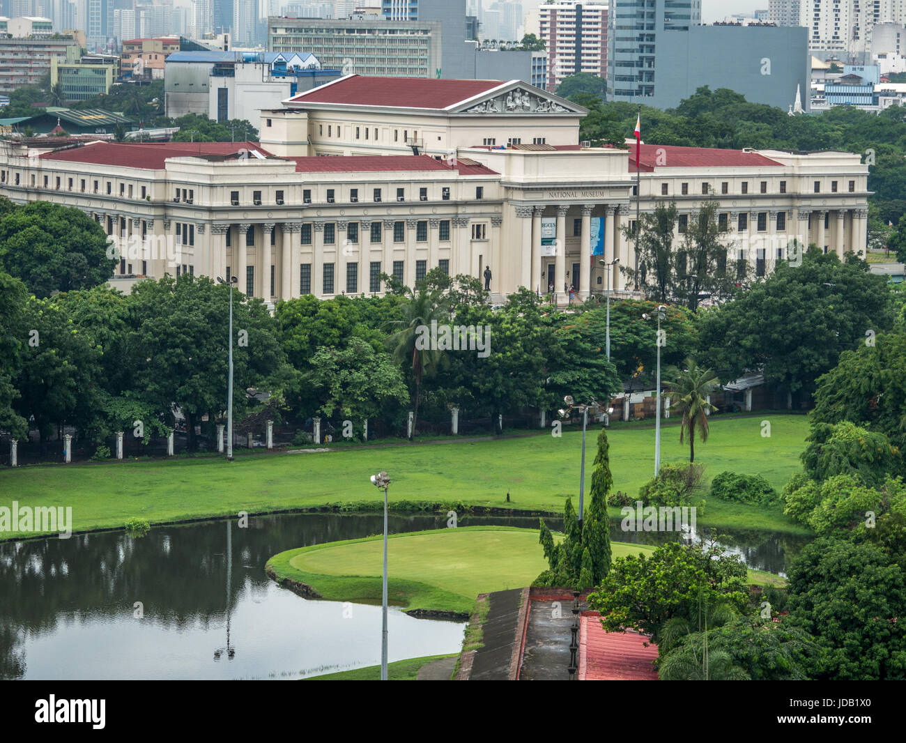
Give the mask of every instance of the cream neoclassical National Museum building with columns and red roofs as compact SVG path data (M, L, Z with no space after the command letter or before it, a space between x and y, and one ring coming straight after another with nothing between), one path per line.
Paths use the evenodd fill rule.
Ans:
M489 267L496 297L603 292L602 260L635 263L636 188L641 212L676 203L677 246L717 201L731 254L757 274L794 238L865 249L859 155L645 143L637 172L634 146L580 141L586 112L520 81L350 75L261 111L260 142L8 138L0 194L97 219L120 258L112 285L235 275L268 302L380 294L381 273L413 285L436 267ZM627 288L619 270L610 281Z

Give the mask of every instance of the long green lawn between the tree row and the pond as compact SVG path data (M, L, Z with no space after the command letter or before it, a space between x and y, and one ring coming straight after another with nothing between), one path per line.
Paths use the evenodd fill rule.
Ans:
M761 421L771 423L770 438ZM390 473L390 502L421 501L467 506L563 512L564 497L579 486L581 429L560 438L359 447L321 453L173 458L5 468L0 505L72 507L73 531L121 527L132 516L151 524L205 516L367 503L380 510L381 492L369 477ZM590 430L586 486L591 481L598 429ZM774 487L800 468L808 424L805 416L765 414L714 419L707 444L696 443L696 461L708 477L729 469L758 473ZM613 487L635 495L653 475L654 430L609 432ZM688 458L679 427L661 430L661 461ZM506 492L510 503L506 503ZM392 507L392 506L391 506ZM612 510L617 516L619 509ZM699 524L745 526L805 533L779 507L708 503ZM5 533L4 538L17 536ZM24 535L23 535L24 536Z

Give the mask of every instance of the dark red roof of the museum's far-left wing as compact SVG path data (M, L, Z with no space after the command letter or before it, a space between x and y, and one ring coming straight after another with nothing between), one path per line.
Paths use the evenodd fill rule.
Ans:
M94 142L72 150L45 152L42 159L87 162L92 165L122 165L143 170L162 170L168 158L194 155L233 155L241 150L270 153L257 142Z

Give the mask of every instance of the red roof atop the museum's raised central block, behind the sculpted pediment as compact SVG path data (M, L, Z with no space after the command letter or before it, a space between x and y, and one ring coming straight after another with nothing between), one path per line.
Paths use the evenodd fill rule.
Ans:
M291 98L294 103L341 103L404 109L447 109L506 84L500 80L438 80L350 75Z

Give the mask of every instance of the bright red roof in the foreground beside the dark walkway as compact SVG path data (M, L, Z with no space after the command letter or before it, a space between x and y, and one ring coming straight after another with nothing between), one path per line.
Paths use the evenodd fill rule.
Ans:
M645 647L645 644L648 647ZM597 612L583 612L579 629L579 680L656 681L657 645L636 632L604 632Z

